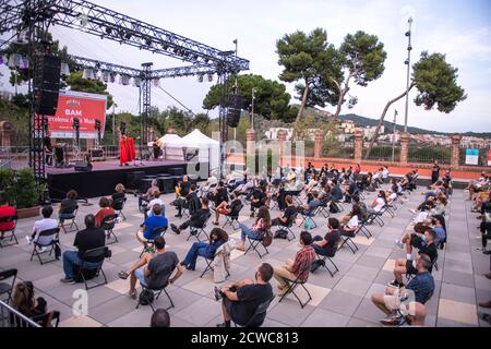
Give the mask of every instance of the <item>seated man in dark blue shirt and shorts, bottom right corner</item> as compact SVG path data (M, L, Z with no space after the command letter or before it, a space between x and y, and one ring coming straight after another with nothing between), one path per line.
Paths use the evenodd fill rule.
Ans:
M409 325L423 326L426 317L424 303L434 292L433 276L429 272L431 260L426 254L420 254L416 260L416 276L407 287L385 289L385 294L372 294L372 302L383 311L387 317L381 323L388 326L400 324L402 318L397 314L402 303L406 303Z

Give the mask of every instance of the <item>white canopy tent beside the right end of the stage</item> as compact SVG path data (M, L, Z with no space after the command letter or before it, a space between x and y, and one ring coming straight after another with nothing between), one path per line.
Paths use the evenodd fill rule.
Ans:
M192 148L199 151L199 161L209 163L209 169L214 170L219 167L220 164L220 143L206 135L200 130L195 129L190 134L183 136L180 140L170 140L166 143L167 154L175 154L175 149Z

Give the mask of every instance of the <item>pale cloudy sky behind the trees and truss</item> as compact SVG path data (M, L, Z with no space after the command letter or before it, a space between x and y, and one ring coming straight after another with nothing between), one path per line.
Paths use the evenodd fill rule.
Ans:
M459 84L467 100L450 115L424 111L410 105L409 124L439 131L491 131L491 1L489 0L304 0L304 1L225 1L225 0L93 0L93 2L129 14L161 28L193 38L223 50L235 48L251 61L251 73L277 80L275 43L285 33L310 32L320 26L328 40L339 46L347 33L363 29L379 36L385 45L385 73L368 87L351 89L358 105L348 111L378 118L386 101L404 92L406 84L407 19L414 23L414 56L423 50L446 53L447 61L459 69ZM155 68L180 65L182 62L120 46L76 31L55 27L56 39L69 52L87 58L140 67L153 61ZM4 68L2 72L5 73ZM2 89L11 87L2 80ZM161 86L193 111L202 110L209 83L195 77L165 80ZM117 110L137 110L137 89L109 85L118 104ZM295 95L292 85L288 91ZM165 93L154 88L153 105L176 105ZM412 95L414 97L414 95ZM294 100L292 100L294 101ZM404 100L395 105L400 123ZM327 108L333 110L333 108ZM388 119L392 120L393 110Z

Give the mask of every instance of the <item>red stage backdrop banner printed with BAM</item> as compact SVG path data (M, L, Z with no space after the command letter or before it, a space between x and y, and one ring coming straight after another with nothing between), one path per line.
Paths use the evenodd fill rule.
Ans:
M60 91L53 117L47 117L49 134L53 139L73 139L73 119L80 120L80 137L97 139L95 121L100 121L100 137L106 124L107 96L76 91Z

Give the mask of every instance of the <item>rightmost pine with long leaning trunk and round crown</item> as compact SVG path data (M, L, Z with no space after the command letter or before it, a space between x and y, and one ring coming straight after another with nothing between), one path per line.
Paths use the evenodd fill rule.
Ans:
M418 89L415 104L424 106L426 110L431 110L436 106L436 110L445 113L452 112L459 101L467 98L464 88L457 84L458 69L446 62L445 55L428 51L421 53L421 58L412 65L411 82L409 88L397 97L391 99L385 105L376 125L375 134L370 141L366 158L370 156L373 144L379 136L380 128L384 122L385 115L391 106L405 97L414 87Z

